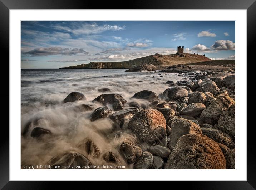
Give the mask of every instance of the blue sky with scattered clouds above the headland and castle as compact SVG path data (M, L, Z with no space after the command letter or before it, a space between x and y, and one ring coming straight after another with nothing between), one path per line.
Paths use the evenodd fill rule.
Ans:
M235 59L235 21L21 21L21 68L60 68L159 54Z

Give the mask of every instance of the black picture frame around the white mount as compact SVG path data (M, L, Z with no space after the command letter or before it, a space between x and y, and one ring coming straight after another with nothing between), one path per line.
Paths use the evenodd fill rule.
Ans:
M115 5L115 6L114 6ZM0 0L0 49L2 60L1 75L2 93L2 120L6 124L1 126L0 138L0 188L3 189L51 189L54 182L10 182L9 181L9 102L3 101L9 98L9 10L10 9L246 9L247 10L247 56L248 62L253 60L256 34L256 2L255 0L137 0L137 1L79 1L79 0ZM19 64L19 63L17 63ZM247 63L241 63L245 66ZM248 84L253 85L253 77L249 72L253 72L253 62L250 69L247 68ZM248 67L248 65L247 65ZM253 93L247 93L247 99L255 99ZM17 95L17 98L19 96ZM11 101L11 100L9 100ZM253 118L253 112L247 112L247 118ZM243 128L247 126L242 126ZM188 186L189 189L255 189L256 188L256 162L255 162L255 129L254 125L247 127L247 181L222 181L222 182L168 182ZM238 163L239 164L239 163ZM200 179L199 179L200 180ZM88 182L87 182L88 183ZM126 182L128 183L128 182ZM73 187L67 183L62 183L66 188ZM149 185L151 183L148 183ZM166 184L166 183L163 183ZM60 184L58 184L59 186ZM90 184L88 184L90 186ZM120 187L119 185L115 185ZM133 185L122 185L124 188L131 188ZM51 188L49 188L51 187ZM60 188L60 186L59 186ZM58 189L59 189L58 188ZM112 186L112 188L114 188Z

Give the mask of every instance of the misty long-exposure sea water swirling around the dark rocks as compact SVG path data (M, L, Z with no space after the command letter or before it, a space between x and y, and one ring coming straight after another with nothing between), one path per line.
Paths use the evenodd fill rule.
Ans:
M109 119L90 121L92 111L79 111L79 104L91 104L94 109L102 106L91 101L104 93L119 93L129 102L134 93L150 90L157 94L168 88L166 81L182 79L177 73L124 72L125 69L23 69L21 70L21 133L25 126L29 130L21 137L21 165L44 165L64 151L75 150L84 154L94 165L108 165L100 156L92 158L79 147L84 139L93 140L101 155L111 151L119 158L125 169L127 165L119 155L123 141L136 143L126 131L113 132L113 122ZM152 78L155 76L154 78ZM110 92L98 92L109 88ZM87 98L83 101L62 101L70 92L77 91ZM149 102L137 100L139 104ZM124 105L124 109L129 107ZM33 120L37 122L31 122ZM51 131L38 140L30 136L35 127Z

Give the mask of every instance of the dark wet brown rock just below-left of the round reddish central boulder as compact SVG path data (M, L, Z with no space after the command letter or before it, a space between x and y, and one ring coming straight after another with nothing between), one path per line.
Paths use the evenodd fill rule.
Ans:
M141 157L142 150L137 145L123 142L120 147L120 153L128 163L134 163Z

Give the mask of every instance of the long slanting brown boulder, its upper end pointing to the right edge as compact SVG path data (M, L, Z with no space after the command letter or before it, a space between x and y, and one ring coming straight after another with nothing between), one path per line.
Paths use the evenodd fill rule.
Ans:
M215 123L218 123L220 115L232 104L235 104L235 101L232 98L220 96L203 110L200 118L203 122L214 125Z

